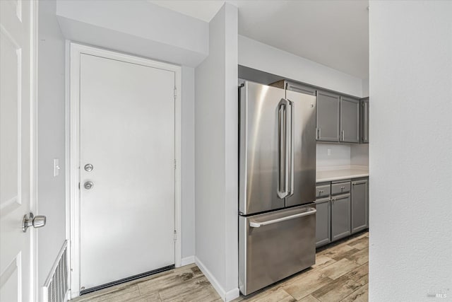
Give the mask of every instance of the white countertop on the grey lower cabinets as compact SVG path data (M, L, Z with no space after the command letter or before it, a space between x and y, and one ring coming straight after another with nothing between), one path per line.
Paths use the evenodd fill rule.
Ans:
M316 182L365 178L369 176L369 167L365 165L338 165L322 167L316 170Z

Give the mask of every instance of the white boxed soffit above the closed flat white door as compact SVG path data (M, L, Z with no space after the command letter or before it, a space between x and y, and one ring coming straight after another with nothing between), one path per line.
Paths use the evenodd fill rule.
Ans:
M208 23L145 0L59 0L57 15L69 40L192 67L208 55Z

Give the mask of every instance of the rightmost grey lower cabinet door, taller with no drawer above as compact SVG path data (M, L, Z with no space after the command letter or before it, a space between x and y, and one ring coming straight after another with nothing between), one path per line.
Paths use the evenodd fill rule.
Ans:
M368 180L352 182L352 233L369 227Z

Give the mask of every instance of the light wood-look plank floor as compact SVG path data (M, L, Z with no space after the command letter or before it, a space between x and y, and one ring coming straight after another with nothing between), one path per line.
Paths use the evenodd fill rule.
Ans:
M369 233L341 240L317 251L316 265L234 302L367 301ZM208 279L187 265L76 298L97 301L222 301Z

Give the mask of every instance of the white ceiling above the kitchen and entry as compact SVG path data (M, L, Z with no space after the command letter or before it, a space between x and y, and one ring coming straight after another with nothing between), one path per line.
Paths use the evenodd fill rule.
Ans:
M209 22L225 1L148 0ZM361 79L369 77L367 0L227 0L239 34Z

